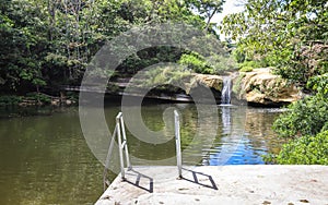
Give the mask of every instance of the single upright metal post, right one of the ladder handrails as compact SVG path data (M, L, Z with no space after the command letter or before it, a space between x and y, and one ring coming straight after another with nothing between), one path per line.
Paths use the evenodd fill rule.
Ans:
M180 146L180 123L179 123L179 113L174 110L174 128L175 128L175 145L176 145L176 164L178 167L178 178L183 178L183 168L181 168L181 146Z

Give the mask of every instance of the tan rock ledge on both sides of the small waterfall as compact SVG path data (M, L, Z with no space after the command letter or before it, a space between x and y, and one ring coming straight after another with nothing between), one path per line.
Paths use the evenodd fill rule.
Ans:
M171 99L169 97L173 96L173 98L177 100L174 96L183 95L184 98L189 97L188 100L191 101L190 95L192 96L192 93L197 94L200 98L206 99L208 97L207 87L210 87L216 102L221 102L224 76L183 73L179 79L176 77L176 74L171 74L171 71L164 71L152 77L140 75L140 79L134 79L132 83L130 82L130 87L133 88L133 91L131 91L138 94L142 88L152 85L166 85L166 87L161 87L160 92L154 92L150 96L154 97L161 95L159 98L166 96L168 97L167 99ZM296 101L301 98L301 92L294 85L288 84L285 80L282 80L278 75L273 75L269 68L254 69L251 72L234 72L230 73L230 77L233 80L232 100L236 98L238 100L247 101L250 105L281 106ZM155 81L159 79L161 79L161 81ZM167 85L179 85L181 89L173 89ZM183 101L185 100L186 99L183 99Z

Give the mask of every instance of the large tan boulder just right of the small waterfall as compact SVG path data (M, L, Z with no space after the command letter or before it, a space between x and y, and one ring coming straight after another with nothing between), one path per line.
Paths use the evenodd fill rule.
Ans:
M241 100L265 106L290 104L301 98L300 89L273 75L270 68L241 72L234 80L234 93Z

